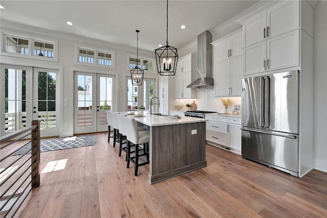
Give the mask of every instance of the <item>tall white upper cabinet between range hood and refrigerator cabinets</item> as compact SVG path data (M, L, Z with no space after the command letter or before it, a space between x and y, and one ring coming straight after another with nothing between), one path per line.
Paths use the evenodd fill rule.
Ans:
M242 30L217 41L214 46L215 96L241 96L243 75Z

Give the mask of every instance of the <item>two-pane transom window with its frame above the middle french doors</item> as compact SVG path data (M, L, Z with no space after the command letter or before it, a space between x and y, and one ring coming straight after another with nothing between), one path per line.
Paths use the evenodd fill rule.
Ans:
M75 64L114 67L114 51L101 51L97 48L86 48L79 45L75 45L75 49L77 54Z

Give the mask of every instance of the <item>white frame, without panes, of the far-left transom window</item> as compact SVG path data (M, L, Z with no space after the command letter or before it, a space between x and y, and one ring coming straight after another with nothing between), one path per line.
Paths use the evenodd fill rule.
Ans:
M56 40L56 39L44 38L44 37L40 37L40 36L36 36L36 35L29 35L29 34L12 32L12 31L7 31L7 30L0 30L0 35L2 37L2 41L0 43L0 46L1 46L0 55L58 62L58 40ZM20 54L20 53L6 52L7 36L29 40L29 46L28 46L29 54L26 55L26 54ZM49 57L45 57L45 56L34 55L34 43L33 43L34 41L53 43L54 57L49 58Z

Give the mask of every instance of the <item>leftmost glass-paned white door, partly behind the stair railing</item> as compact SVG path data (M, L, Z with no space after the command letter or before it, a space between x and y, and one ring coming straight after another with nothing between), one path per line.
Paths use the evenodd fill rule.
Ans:
M1 64L0 136L32 122L32 68Z

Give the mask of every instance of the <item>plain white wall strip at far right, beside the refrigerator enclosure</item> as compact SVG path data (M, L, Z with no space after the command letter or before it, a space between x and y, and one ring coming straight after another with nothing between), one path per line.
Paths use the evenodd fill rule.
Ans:
M315 8L314 168L327 172L327 1Z

